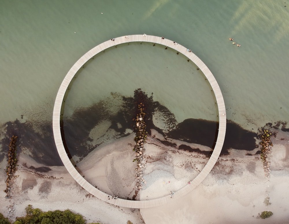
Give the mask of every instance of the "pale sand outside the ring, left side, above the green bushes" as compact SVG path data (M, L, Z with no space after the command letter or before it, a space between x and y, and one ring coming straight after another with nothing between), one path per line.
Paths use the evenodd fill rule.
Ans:
M25 162L28 167L40 167L34 160L25 155L19 158L20 164ZM88 194L71 177L64 166L50 167L52 171L39 174L35 170L29 170L23 166L18 167L16 183L14 184L14 197L5 199L3 190L0 192L0 212L9 217L8 206L14 204L16 209L14 214L9 217L14 221L16 217L25 216L25 207L31 204L34 208L43 211L70 209L79 213L87 219L87 223L142 223L142 217L138 209L119 208L105 203ZM1 179L6 179L1 172ZM4 173L5 174L5 173ZM4 181L0 188L5 189ZM11 213L10 213L11 214Z

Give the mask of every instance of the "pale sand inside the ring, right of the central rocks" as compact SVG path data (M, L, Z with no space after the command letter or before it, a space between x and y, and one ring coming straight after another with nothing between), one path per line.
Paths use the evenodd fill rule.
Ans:
M199 153L177 150L183 142L174 142L177 143L176 147L168 147L157 140L147 139L147 166L144 169L147 184L141 192L141 200L164 197L171 191L180 190L189 180L194 179L208 162L209 158ZM210 148L197 144L186 145L211 151Z

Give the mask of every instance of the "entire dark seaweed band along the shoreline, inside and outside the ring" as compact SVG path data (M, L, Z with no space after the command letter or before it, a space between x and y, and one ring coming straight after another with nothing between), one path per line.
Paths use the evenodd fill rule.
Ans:
M136 90L137 91L137 90ZM136 93L135 93L136 94ZM218 135L218 122L207 121L203 119L186 119L177 123L175 115L158 101L153 101L153 94L147 96L144 93L144 103L146 112L147 132L151 135L151 129L155 129L161 133L165 138L172 138L183 140L188 143L197 143L214 148L216 138ZM89 136L93 128L100 122L108 120L111 122L109 129L114 130L117 135L115 139L127 136L127 129L134 130L133 118L136 114L136 100L134 97L122 96L118 93L112 93L110 97L118 97L121 101L116 109L115 114L110 113L110 105L108 101L99 101L90 107L79 108L71 117L65 117L60 120L61 133L64 142L64 147L68 156L72 158L73 155L80 158L85 157L98 145L93 145L93 139ZM163 123L166 125L166 131L160 129L153 123L153 115L164 115ZM282 126L282 130L287 131L286 122L277 122L275 128ZM20 153L22 149L29 149L32 158L36 162L45 164L46 166L61 166L62 161L58 155L55 147L52 131L52 121L38 122L26 121L21 123L19 120L7 122L2 126L5 130L5 137L1 140L2 151L0 153L0 161L5 157L5 149L8 149L9 137L12 135L18 136L17 150ZM105 133L103 133L105 134ZM233 121L227 120L226 136L221 151L221 155L228 154L231 148L251 151L258 147L255 143L257 133L243 129L240 125ZM165 145L175 147L170 141L162 141ZM201 151L199 149L192 149L187 145L181 145L181 150L194 151L208 155L211 152ZM45 172L43 170L42 172Z

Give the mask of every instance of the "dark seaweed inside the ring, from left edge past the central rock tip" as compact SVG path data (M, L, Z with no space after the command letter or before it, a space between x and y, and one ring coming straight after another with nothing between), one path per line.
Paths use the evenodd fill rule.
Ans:
M153 93L152 93L153 95ZM117 109L116 114L110 113L110 108L114 105L109 105L106 100L99 101L87 108L79 108L69 118L64 118L61 121L61 134L64 148L69 158L77 155L80 158L85 157L89 152L96 149L99 144L92 145L93 139L89 137L91 130L96 127L101 121L108 120L111 122L110 129L113 129L118 134L115 139L127 136L127 129L135 129L135 122L133 121L135 115L138 113L138 103L143 102L144 112L146 113L147 132L150 135L151 129L155 129L161 134L165 135L163 130L153 124L153 114L158 111L166 117L164 123L169 127L175 127L175 115L168 110L164 105L157 101L153 101L153 96L148 96L147 93L141 89L134 91L134 97L121 96L118 93L111 93L111 97L119 99L122 102ZM63 123L62 123L63 122ZM105 134L105 133L103 133ZM169 142L165 142L169 144Z

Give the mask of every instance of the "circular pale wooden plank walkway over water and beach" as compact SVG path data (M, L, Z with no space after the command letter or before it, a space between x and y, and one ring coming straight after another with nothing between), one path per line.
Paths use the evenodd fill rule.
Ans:
M191 184L187 184L186 186L184 186L184 188L181 188L180 190L175 192L174 200L185 196L190 191L192 191L196 186L198 186L205 179L205 177L210 173L213 166L215 165L221 153L221 149L223 147L223 143L225 139L226 110L225 110L224 99L223 99L221 90L219 88L219 85L214 75L210 71L210 69L208 69L208 67L201 61L201 59L199 59L193 52L189 52L186 47L180 44L176 44L171 40L162 39L161 37L158 37L158 36L129 35L129 36L122 36L122 37L115 38L114 41L108 40L106 42L101 43L100 45L97 45L90 51L88 51L68 71L67 75L64 77L64 80L62 81L62 84L60 85L60 88L58 90L58 93L55 99L54 109L53 109L53 135L54 135L56 148L58 150L58 153L60 155L60 158L64 166L66 167L68 172L71 174L71 176L75 179L75 181L80 186L82 186L92 195L94 195L95 197L103 201L114 204L116 206L122 206L122 207L127 207L127 208L151 208L151 207L156 207L156 206L160 206L165 203L171 202L172 199L168 195L166 197L161 197L161 198L153 199L153 200L145 200L145 201L130 201L130 200L125 200L125 199L120 199L120 198L118 198L117 200L111 200L111 199L108 200L108 196L109 196L108 194L92 186L77 172L77 170L75 169L75 167L73 166L73 164L71 163L71 161L69 160L65 152L61 133L60 133L60 112L62 108L62 101L64 99L64 95L68 88L68 85L70 84L74 75L94 55L98 54L101 51L104 51L107 48L114 47L115 45L128 43L128 42L156 43L156 44L164 45L166 47L175 49L179 53L185 55L188 59L194 62L194 64L196 64L199 67L199 69L204 73L204 75L208 79L208 82L212 86L212 90L214 91L214 94L216 96L216 101L218 104L218 113L219 113L219 132L218 132L218 138L217 138L217 142L216 142L214 151L212 153L212 156L210 157L208 163L205 165L204 169L199 173L199 175L197 175L197 177L195 177L192 180Z

